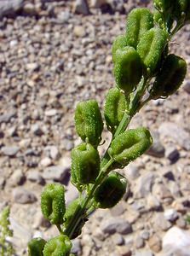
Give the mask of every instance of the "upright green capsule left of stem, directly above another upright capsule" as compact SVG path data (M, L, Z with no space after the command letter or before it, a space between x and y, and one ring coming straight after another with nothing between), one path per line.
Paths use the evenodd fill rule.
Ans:
M78 136L83 141L97 146L101 142L103 121L101 111L95 100L79 102L75 110L75 125Z

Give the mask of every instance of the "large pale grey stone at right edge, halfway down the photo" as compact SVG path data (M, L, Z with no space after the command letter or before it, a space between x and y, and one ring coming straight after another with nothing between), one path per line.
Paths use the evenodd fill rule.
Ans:
M181 128L181 126L171 122L164 122L159 126L158 131L160 137L170 137L174 139L181 148L190 150L190 135L187 131Z

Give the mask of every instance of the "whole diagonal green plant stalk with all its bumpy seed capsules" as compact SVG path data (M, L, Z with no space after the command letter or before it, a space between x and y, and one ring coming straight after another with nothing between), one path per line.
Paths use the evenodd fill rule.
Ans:
M153 143L144 127L125 131L124 122L133 116L131 102L138 96L141 81L147 87L136 97L138 101L146 92L148 99L153 100L170 96L185 78L187 63L180 56L169 54L169 42L173 33L190 22L190 0L154 0L153 3L154 13L145 8L133 9L127 17L126 32L112 44L116 86L108 91L104 106L107 130L112 133L106 157L101 160L98 151L104 127L101 109L95 100L79 102L74 119L82 142L72 149L71 178L80 196L66 207L61 184L44 187L43 217L57 225L60 236L49 241L32 239L28 244L29 256L72 256L71 239L81 234L89 209L114 207L122 199L128 181L114 170L127 166ZM138 106L139 102L135 104ZM90 195L85 203L83 195Z

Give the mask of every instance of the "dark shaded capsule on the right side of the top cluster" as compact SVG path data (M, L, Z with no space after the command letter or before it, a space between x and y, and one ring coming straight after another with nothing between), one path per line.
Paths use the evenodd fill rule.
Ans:
M172 95L182 84L186 73L186 61L177 55L168 55L150 90L152 98Z

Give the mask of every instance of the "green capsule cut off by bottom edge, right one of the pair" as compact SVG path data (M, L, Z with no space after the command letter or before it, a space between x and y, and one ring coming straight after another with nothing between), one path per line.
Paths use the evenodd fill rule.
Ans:
M67 236L55 236L45 244L43 256L69 256L71 249L72 242Z

